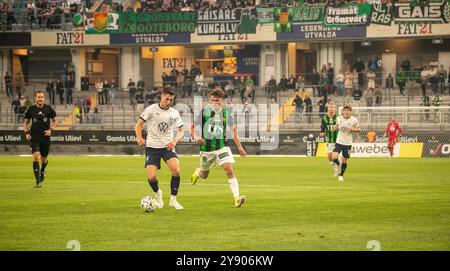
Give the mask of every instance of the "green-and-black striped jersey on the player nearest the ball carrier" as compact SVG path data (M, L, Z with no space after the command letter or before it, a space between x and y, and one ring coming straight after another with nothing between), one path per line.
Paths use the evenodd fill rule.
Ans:
M200 126L201 136L205 140L205 143L200 145L200 151L211 152L228 146L227 129L234 124L227 107L222 106L222 110L216 113L211 106L206 106L197 115L194 123L197 127Z

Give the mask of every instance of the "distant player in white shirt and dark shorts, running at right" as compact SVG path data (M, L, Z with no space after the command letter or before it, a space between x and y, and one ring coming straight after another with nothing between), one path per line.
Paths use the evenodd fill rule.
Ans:
M350 158L350 150L353 143L353 133L361 131L359 127L359 121L352 116L352 107L349 105L344 106L342 115L336 120L336 130L339 131L336 138L336 144L332 154L334 163L341 167L338 180L344 181L344 173L347 169L347 160ZM342 165L339 162L339 154L342 153Z

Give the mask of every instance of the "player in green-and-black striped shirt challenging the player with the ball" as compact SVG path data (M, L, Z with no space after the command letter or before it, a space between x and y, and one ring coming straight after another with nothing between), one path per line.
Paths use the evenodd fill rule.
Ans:
M234 205L241 207L245 202L245 196L239 195L239 186L234 175L233 164L235 160L227 144L228 129L233 132L233 140L239 154L245 157L244 148L239 141L233 117L226 106L222 105L225 92L216 88L210 92L210 104L198 114L191 125L191 134L195 142L200 145L200 168L195 169L191 177L191 183L195 184L198 178L208 178L209 170L215 163L224 169L228 184L234 196ZM201 137L198 137L195 128L201 129Z

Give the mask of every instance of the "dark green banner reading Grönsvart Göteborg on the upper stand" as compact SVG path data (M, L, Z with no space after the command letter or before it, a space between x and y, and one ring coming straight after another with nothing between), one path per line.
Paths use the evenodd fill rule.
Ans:
M121 12L118 33L194 33L196 22L197 12Z

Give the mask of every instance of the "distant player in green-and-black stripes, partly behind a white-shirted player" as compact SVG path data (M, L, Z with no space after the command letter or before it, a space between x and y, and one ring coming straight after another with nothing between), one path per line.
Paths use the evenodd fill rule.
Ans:
M339 167L333 162L331 153L334 149L334 143L336 143L336 138L338 131L336 130L336 120L338 114L336 113L336 104L333 102L328 103L327 113L323 115L322 124L320 125L320 136L326 136L327 142L327 156L330 166L334 169L334 177L339 175Z

